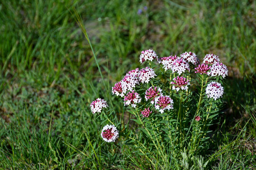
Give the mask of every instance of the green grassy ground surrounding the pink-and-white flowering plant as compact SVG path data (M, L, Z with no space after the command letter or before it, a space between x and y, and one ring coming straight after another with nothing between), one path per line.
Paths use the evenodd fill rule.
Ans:
M81 14L99 67L73 8ZM253 0L2 0L0 169L157 169L136 146L104 142L105 124L89 107L105 98L116 114L127 117L111 87L140 67L140 51L146 49L158 56L193 51L201 60L207 53L220 57L229 68L225 103L202 162L209 161L205 169L254 170ZM201 169L189 156L189 169ZM181 157L166 169L186 166Z

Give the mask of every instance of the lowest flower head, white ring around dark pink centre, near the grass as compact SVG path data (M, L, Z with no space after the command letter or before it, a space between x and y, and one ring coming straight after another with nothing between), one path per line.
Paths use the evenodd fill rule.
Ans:
M106 142L115 142L119 137L117 127L114 125L106 125L101 130L101 137Z

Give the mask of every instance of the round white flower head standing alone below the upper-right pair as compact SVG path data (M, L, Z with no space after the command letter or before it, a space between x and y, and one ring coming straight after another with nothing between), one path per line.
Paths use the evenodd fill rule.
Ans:
M218 82L210 82L206 87L206 92L208 98L213 98L214 100L222 97L224 93L224 88Z

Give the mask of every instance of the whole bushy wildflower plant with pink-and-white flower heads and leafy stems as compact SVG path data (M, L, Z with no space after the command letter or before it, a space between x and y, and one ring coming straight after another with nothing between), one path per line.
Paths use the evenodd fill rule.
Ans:
M137 124L133 126L136 128L120 123L117 116L110 118L107 112L112 111L108 110L101 119L111 125L103 127L101 137L106 142L120 140L135 146L152 164L160 157L163 167L183 150L200 154L210 141L209 127L217 123L227 67L214 54L207 54L200 64L192 52L158 58L155 51L146 50L139 61L146 67L128 71L112 87L112 94L124 103L125 114ZM94 103L92 113L96 112ZM103 103L100 108L109 109ZM146 154L152 150L157 155Z

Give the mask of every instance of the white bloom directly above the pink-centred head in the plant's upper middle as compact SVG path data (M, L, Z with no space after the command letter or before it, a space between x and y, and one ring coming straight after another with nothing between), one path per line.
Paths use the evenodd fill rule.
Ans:
M186 70L190 71L189 64L182 58L177 58L173 62L173 67L171 68L173 73L177 72L179 75L184 73Z

